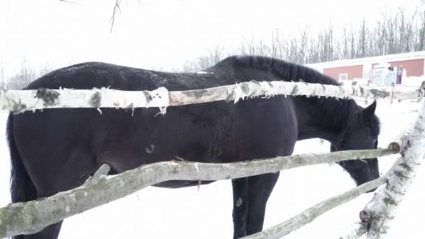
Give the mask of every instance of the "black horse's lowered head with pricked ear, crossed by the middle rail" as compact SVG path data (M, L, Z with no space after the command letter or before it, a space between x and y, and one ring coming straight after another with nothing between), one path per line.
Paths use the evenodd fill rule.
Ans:
M350 124L343 129L331 152L340 150L369 150L377 147L380 122L375 115L376 101L367 108L355 110ZM350 173L357 185L380 177L377 159L346 160L338 163Z

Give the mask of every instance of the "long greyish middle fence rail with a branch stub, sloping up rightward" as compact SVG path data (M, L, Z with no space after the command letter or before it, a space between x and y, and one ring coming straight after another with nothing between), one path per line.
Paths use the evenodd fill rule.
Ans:
M199 181L244 178L264 173L276 173L299 166L324 164L346 159L369 159L389 154L394 154L394 152L389 149L352 150L327 154L300 154L229 164L163 161L110 177L105 175L108 172L108 167L103 166L99 169L101 173L98 171L91 180L78 188L60 192L48 198L26 203L13 203L0 208L0 238L22 233L36 233L45 226L55 224L62 219L115 201L152 184L168 180ZM377 187L375 184L363 185L361 191L368 191ZM360 193L360 191L357 191L353 194ZM336 199L333 199L333 201L336 201Z

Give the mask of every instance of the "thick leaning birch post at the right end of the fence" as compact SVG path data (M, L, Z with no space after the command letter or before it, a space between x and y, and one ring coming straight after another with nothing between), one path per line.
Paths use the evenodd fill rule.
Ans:
M362 222L369 224L368 239L387 235L396 209L415 178L425 154L425 103L408 135L408 146L394 164L386 187L377 190L372 201L361 212Z

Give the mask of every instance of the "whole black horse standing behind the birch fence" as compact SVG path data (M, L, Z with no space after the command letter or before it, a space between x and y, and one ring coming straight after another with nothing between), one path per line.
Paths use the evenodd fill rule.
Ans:
M294 80L338 85L311 68L269 57L228 57L199 73L164 73L99 62L61 68L25 89L59 87L122 90L187 90L232 85L247 80ZM236 104L217 101L132 110L59 108L10 114L7 123L12 162L13 203L51 196L78 187L101 164L122 173L142 164L182 158L226 163L290 155L296 140L323 138L331 150L372 149L380 123L375 103L304 96L256 98ZM340 163L356 184L379 177L377 159ZM262 230L268 197L279 173L232 180L234 238ZM202 182L203 184L209 182ZM157 187L187 187L198 182L169 181ZM62 222L34 235L57 238Z

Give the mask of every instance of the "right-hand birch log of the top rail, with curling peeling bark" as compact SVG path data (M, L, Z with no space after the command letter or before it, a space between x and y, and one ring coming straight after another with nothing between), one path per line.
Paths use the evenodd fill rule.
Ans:
M257 82L251 80L236 85L169 93L170 106L222 100L233 100L236 103L240 99L274 95L403 100L422 99L425 95L424 86L419 89L393 89L389 87L336 86L286 81Z

